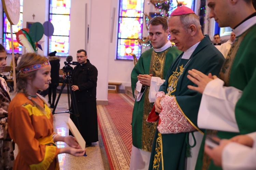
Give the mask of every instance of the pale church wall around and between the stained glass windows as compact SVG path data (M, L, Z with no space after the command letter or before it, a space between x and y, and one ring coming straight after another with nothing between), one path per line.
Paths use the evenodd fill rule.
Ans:
M24 28L26 22L41 22L48 20L48 0L34 1L24 0L23 23ZM87 46L88 59L98 69L98 83L97 83L97 100L108 101L108 81L121 82L121 90L125 86L130 86L130 74L133 69L132 61L115 60L116 46L117 46L117 31L118 31L118 10L119 0L72 0L71 1L71 30L70 30L70 53L73 56L73 61L76 61L76 51L85 49L85 3L88 4L88 24L89 24L89 39ZM148 0L144 2L144 13L155 12L152 4L147 4ZM200 0L196 0L196 10ZM112 13L115 8L113 41L110 42ZM35 15L34 20L32 15ZM213 19L211 19L213 20ZM1 19L0 19L1 21ZM213 27L212 21L210 21ZM2 22L0 23L2 24ZM1 30L2 31L2 30ZM0 31L0 32L1 32ZM147 36L145 24L143 24L143 36ZM210 32L210 34L213 34ZM210 35L211 39L213 35ZM47 55L47 40L43 36L42 44L44 51L39 50L39 54ZM142 48L142 52L145 49ZM8 65L10 65L11 57L8 58ZM62 68L64 66L65 57L61 57Z

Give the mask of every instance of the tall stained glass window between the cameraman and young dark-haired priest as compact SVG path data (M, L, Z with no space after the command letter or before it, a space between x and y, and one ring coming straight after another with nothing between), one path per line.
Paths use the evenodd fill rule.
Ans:
M120 0L117 56L120 60L133 60L127 49L136 56L141 55L144 0Z

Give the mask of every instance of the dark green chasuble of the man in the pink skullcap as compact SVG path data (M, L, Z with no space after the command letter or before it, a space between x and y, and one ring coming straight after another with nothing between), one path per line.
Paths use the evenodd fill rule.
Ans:
M178 56L170 67L166 82L159 91L168 94L168 87L173 90L169 94L174 96L177 105L189 122L197 128L197 114L202 94L187 88L188 85L196 86L188 80L188 70L197 69L204 74L216 75L222 67L224 57L212 44L206 35L190 56L190 61ZM176 78L174 78L176 76ZM174 83L173 83L173 80ZM161 120L163 121L163 120ZM189 133L160 134L156 130L153 142L149 169L184 170L187 144L186 135ZM192 153L193 154L193 153Z

